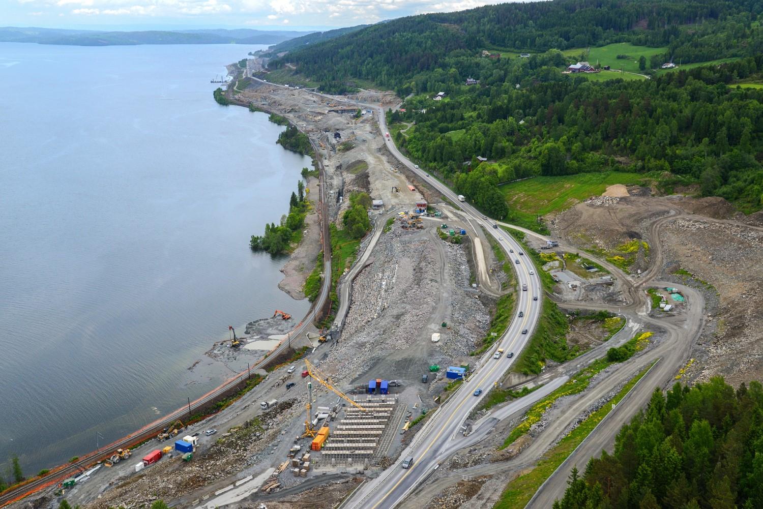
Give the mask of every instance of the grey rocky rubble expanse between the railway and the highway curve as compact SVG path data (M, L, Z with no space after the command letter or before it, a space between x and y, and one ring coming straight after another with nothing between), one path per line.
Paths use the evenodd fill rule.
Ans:
M430 363L460 362L485 335L490 317L468 285L463 247L439 240L434 228L395 224L382 235L374 262L353 283L340 348L322 369L345 380L372 370L377 378L417 381ZM436 344L434 332L442 334Z

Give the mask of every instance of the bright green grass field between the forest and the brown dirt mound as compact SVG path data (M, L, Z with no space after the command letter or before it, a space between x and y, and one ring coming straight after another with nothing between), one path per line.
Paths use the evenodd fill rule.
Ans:
M578 173L561 177L533 177L501 185L509 208L518 214L549 214L562 211L591 196L598 196L613 184L641 184L647 177L639 173Z

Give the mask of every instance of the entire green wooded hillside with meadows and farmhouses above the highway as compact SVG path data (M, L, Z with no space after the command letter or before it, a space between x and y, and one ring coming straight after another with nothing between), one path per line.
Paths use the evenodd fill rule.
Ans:
M763 0L517 2L375 24L270 66L293 63L328 92L355 79L394 89L398 146L493 217L539 228L512 215L501 183L605 170L666 192L698 184L751 212L763 206L761 21ZM636 72L564 72L591 47Z

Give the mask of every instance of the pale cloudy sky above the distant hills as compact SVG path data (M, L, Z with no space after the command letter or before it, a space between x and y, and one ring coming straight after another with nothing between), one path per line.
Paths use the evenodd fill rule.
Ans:
M321 30L507 0L0 0L0 25L95 30Z

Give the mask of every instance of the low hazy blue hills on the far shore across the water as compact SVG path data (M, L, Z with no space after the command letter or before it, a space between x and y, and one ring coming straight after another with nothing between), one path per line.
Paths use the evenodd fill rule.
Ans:
M0 42L69 46L134 46L137 44L272 44L309 32L240 30L83 31L36 27L0 27Z

